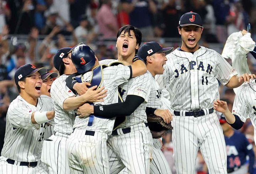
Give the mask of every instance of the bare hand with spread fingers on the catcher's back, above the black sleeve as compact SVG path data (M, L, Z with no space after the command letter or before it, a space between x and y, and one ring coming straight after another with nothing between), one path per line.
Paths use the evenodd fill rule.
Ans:
M103 98L107 96L107 90L104 90L105 87L101 87L97 90L95 90L97 88L97 85L92 86L91 88L89 88L85 94L83 94L84 99L86 100L86 102L102 102L104 101Z

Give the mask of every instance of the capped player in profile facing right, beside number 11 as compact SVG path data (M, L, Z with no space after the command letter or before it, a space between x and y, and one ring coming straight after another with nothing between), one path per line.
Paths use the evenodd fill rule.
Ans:
M148 42L142 45L138 51L138 56L146 62L146 67L151 73L151 91L149 100L146 107L147 114L155 114L162 117L165 122L169 123L172 120L172 114L169 110L163 110L162 108L162 90L159 88L158 83L154 77L156 74L164 73L164 64L167 61L165 55L170 54L173 47L162 48L157 42ZM170 101L167 101L170 103ZM152 161L150 164L150 173L152 174L170 174L170 166L161 151L162 142L161 139L153 139L153 153Z

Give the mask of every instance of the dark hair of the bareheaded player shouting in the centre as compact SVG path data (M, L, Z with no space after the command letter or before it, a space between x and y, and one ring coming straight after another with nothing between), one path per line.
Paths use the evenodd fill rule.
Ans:
M133 30L135 38L136 38L136 44L138 44L140 46L140 44L142 42L142 32L136 27L133 27L130 25L121 27L117 33L117 38L120 36L120 34L123 31L124 31L124 33L128 33L130 35L130 30ZM137 52L138 52L138 50L136 49L135 54L137 54Z

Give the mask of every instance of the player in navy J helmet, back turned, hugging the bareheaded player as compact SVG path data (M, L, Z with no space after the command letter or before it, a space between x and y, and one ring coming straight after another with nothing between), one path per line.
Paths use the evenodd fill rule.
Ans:
M99 107L117 103L118 85L147 71L145 63L142 60L139 61L137 57L134 59L132 66L120 64L102 69L94 51L87 45L76 47L72 51L71 60L78 73L87 71L80 76L84 82L91 81L91 83L94 83L93 81L96 78L98 88L105 86L105 89L108 90L108 95L104 98L104 102L95 103L95 105L100 105ZM86 63L81 64L81 62ZM101 77L98 78L99 76ZM77 110L79 116L75 119L74 132L68 139L67 155L71 173L110 173L107 138L112 133L115 118L112 115L108 119L97 117L96 115L82 118L82 107L87 106L81 106Z

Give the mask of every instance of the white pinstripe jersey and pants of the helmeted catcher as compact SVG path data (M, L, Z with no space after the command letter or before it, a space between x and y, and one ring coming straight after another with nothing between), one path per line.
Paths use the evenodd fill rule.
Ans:
M83 74L84 82L89 82L92 72ZM130 68L118 65L103 69L103 82L108 90L104 102L95 103L108 105L118 103L118 85L130 78ZM104 109L104 106L103 106ZM112 133L115 118L102 119L94 117L92 126L87 126L89 117L75 118L74 133L68 140L67 154L71 173L104 173L110 172L107 155L107 135ZM85 135L86 130L95 131L94 136Z

